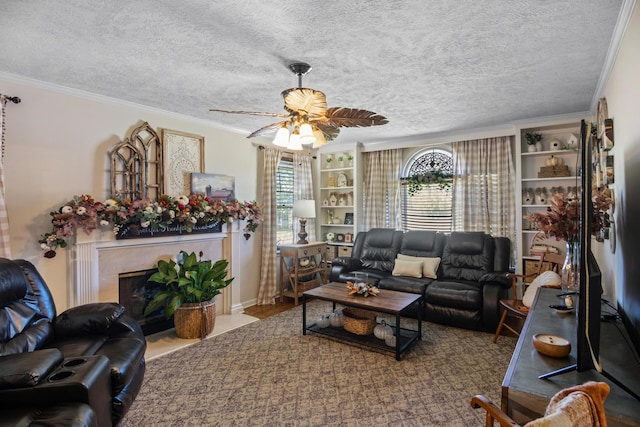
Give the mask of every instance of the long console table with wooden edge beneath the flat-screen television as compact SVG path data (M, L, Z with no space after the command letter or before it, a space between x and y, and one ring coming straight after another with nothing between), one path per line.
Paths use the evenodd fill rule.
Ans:
M640 401L595 370L571 371L546 380L538 379L539 375L576 362L576 315L558 314L549 308L549 305L560 301L557 296L559 292L550 288L540 288L538 291L502 382L502 410L517 423L525 424L543 416L549 400L561 389L587 381L603 381L611 386L611 393L605 400L608 425L640 426ZM541 355L532 342L533 335L538 333L568 339L571 342L571 354L561 359ZM603 322L600 336L600 359L604 371L639 393L640 362L626 341L622 323Z

